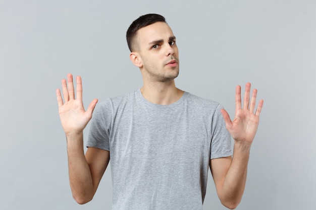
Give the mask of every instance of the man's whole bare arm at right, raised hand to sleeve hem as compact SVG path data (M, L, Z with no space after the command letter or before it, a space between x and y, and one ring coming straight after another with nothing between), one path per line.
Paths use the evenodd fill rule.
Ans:
M241 201L245 188L250 147L253 142L259 115L264 104L259 101L254 112L257 90L254 89L250 100L250 83L246 84L243 107L241 106L241 88L236 87L236 110L234 120L222 109L226 127L235 140L232 157L210 160L210 170L216 185L218 196L226 207L234 209ZM249 103L250 101L250 103Z

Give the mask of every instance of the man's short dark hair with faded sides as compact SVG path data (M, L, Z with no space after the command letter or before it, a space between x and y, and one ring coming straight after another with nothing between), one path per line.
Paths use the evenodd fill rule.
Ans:
M126 41L127 41L128 48L131 52L135 48L134 38L136 36L137 31L145 26L149 26L156 22L167 23L166 19L163 16L158 15L158 14L143 15L133 21L133 23L130 25L130 27L128 28L126 32Z

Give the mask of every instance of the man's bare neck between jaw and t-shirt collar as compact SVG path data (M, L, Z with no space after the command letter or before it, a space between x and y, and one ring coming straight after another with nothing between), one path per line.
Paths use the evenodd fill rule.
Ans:
M175 103L184 93L184 91L176 88L174 80L170 83L144 83L140 91L147 101L161 105Z

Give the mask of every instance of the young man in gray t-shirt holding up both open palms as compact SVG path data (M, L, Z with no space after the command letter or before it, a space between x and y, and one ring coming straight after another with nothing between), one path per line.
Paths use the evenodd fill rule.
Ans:
M250 84L246 84L242 106L237 86L231 121L217 102L176 88L178 48L164 17L139 17L127 31L127 42L143 87L101 102L93 114L85 155L83 129L97 99L85 111L81 78L76 78L75 99L70 74L68 88L62 80L64 101L57 90L74 198L78 203L92 199L111 156L113 210L202 209L208 167L221 202L235 208L244 191L250 146L263 105L260 100L254 110L257 91L250 96Z

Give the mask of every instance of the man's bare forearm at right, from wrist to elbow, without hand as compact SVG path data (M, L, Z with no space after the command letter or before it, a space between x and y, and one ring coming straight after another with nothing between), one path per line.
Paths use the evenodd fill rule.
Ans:
M222 203L237 207L245 189L250 145L235 143L232 163L225 177L221 191Z

